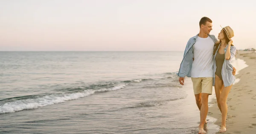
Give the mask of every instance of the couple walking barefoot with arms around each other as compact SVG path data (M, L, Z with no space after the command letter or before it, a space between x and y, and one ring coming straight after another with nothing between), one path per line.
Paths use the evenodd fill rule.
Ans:
M212 30L212 20L202 17L200 32L191 37L186 45L183 60L177 75L184 85L184 77L191 77L196 104L200 110L200 125L198 134L206 134L204 123L207 123L208 97L215 88L218 108L221 111L222 123L219 132L225 132L227 118L227 96L235 82L236 68L231 65L231 59L236 55L233 46L234 36L230 26L221 27L218 39L209 34Z

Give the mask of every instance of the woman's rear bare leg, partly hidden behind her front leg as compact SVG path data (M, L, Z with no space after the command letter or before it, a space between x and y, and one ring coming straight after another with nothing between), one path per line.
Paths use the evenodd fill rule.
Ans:
M221 91L222 91L223 87L224 87L223 81L217 75L215 75L214 88L215 88L215 94L216 94L216 100L218 103L218 108L220 109L220 111L221 111L220 96L221 96Z

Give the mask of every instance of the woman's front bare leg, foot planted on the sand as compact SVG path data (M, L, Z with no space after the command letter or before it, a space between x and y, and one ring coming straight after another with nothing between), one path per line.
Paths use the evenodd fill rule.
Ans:
M231 86L228 87L224 87L222 92L221 92L221 96L220 96L220 104L221 104L221 129L220 129L220 133L225 132L226 129L226 119L227 119L227 96L230 92L230 89L232 88Z

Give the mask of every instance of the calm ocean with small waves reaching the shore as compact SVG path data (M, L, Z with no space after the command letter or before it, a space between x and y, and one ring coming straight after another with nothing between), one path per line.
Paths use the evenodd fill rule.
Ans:
M182 57L175 51L1 51L0 134L196 134L191 79L181 86L176 75ZM216 119L207 120L208 134L215 134Z

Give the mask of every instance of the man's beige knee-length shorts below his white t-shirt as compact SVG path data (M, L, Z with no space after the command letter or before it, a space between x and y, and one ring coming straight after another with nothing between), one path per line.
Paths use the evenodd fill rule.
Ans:
M191 78L193 82L194 94L212 94L212 77Z

